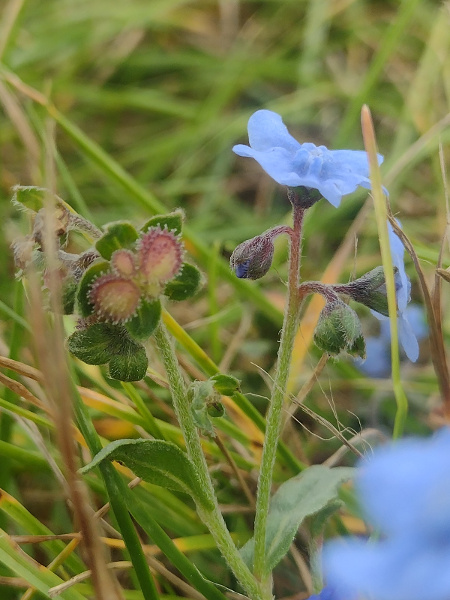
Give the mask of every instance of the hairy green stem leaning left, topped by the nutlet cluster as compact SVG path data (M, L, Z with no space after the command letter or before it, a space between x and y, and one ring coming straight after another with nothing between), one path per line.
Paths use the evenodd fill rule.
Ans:
M172 340L163 323L158 326L154 336L167 373L175 413L183 432L188 456L197 469L202 488L206 492L210 504L214 506L210 511L198 506L199 516L206 527L208 527L218 549L249 597L254 600L262 600L263 598L269 600L271 596L266 597L263 594L259 583L251 574L236 548L219 511L214 487L209 476L208 465L203 454L200 436L191 413L186 385L180 371Z

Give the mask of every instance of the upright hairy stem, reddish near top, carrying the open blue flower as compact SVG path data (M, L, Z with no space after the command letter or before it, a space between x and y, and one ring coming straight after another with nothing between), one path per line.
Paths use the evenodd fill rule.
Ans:
M270 585L268 573L266 572L265 554L267 515L269 512L270 491L272 487L272 473L277 453L283 402L289 377L292 349L297 333L300 305L300 295L298 294L297 289L300 278L302 224L305 210L296 204L294 198L292 198L292 205L294 208L294 227L291 235L289 252L288 296L284 313L280 348L278 350L278 364L273 382L272 398L266 419L266 436L264 439L256 497L254 573L257 579L264 582L266 587Z

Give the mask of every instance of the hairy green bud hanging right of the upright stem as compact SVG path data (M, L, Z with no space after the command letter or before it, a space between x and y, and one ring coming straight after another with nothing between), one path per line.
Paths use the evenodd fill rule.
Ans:
M341 301L328 302L320 313L314 342L328 354L342 351L365 358L366 349L358 315Z

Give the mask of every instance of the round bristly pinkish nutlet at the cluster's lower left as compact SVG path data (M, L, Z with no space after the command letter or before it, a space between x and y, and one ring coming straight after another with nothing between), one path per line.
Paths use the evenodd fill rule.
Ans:
M131 279L108 273L94 281L89 299L97 315L111 323L125 323L139 308L141 290Z

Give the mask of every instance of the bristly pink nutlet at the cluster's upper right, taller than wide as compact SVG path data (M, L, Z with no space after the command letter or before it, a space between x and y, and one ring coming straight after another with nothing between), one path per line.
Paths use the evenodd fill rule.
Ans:
M147 297L158 296L183 264L183 246L167 229L152 227L138 246L136 277Z

